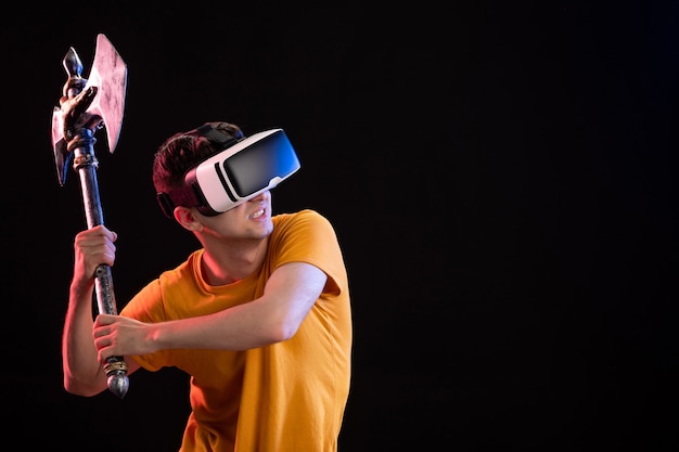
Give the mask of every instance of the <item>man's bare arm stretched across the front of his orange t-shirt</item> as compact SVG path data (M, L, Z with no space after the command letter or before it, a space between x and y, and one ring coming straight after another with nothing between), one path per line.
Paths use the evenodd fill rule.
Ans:
M99 315L94 325L99 361L164 349L245 350L290 339L326 280L315 266L290 262L271 274L260 298L209 315L161 323Z

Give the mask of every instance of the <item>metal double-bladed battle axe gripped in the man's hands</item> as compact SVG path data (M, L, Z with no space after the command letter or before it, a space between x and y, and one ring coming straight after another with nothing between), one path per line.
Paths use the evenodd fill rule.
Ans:
M113 44L104 35L97 37L94 62L89 79L82 78L82 63L71 48L63 60L68 74L60 98L60 106L52 113L52 146L60 185L66 181L67 167L80 177L82 202L88 228L103 224L103 214L99 197L97 169L99 162L94 155L94 133L106 129L108 151L118 143L125 90L127 88L127 66ZM97 305L100 313L117 315L111 268L101 264L95 272ZM108 377L108 389L125 397L129 387L127 363L121 357L111 357L104 365Z

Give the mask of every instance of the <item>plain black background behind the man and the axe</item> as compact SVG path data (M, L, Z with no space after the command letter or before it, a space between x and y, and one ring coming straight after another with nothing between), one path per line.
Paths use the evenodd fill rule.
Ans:
M123 399L62 387L78 177L50 135L74 47L128 65L98 132L118 307L196 247L151 160L207 120L282 127L303 170L278 211L335 225L354 379L341 450L676 451L679 4L466 1L16 4L2 80L2 430L18 449L174 451L177 372Z

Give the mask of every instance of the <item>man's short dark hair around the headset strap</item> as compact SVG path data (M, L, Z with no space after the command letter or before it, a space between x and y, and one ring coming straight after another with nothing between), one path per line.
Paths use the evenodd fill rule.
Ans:
M236 138L243 133L239 126L231 122L207 124L229 137ZM175 133L165 140L153 158L153 185L156 193L169 193L172 189L183 186L187 171L218 151L197 128Z

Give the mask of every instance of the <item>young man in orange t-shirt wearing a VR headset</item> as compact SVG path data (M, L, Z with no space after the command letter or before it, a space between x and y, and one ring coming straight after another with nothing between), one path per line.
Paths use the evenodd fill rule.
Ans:
M243 139L229 122L170 137L155 155L153 182L166 215L202 246L119 315L92 320L94 272L113 266L117 235L103 225L76 235L62 346L68 392L105 390L110 357L127 363L127 375L176 366L191 376L180 451L337 450L351 359L337 237L313 210L273 216L269 188L255 183L271 171L290 176L298 166L281 162L291 158L283 133ZM221 171L227 160L236 163ZM210 185L215 171L229 183ZM239 193L251 182L258 190Z

